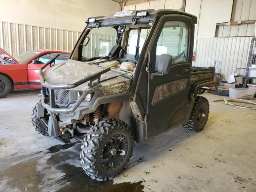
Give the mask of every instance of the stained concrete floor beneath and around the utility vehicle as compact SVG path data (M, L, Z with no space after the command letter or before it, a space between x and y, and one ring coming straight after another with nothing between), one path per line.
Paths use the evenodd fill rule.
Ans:
M205 129L181 126L135 145L126 170L114 180L90 179L80 167L80 143L37 134L30 113L38 90L0 99L2 192L255 192L256 111L210 102Z

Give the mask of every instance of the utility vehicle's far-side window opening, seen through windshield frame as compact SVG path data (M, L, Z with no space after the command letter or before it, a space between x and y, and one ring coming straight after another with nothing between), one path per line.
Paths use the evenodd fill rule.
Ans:
M82 44L88 42L88 45L83 46L82 56L88 59L103 57L107 56L111 48L116 45L117 31L112 27L92 28L87 36L90 41L88 42L88 38L84 39Z

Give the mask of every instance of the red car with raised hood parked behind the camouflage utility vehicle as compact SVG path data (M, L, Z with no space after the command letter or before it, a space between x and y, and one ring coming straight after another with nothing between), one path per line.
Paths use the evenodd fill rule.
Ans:
M58 64L68 60L70 53L57 50L32 50L12 57L0 48L0 98L13 90L40 89L39 68L60 54L54 61Z

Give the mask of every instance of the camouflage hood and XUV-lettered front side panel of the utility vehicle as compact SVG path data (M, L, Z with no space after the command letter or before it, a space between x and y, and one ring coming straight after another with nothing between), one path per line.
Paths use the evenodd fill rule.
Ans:
M85 62L80 62L76 60L66 60L58 65L54 65L49 69L45 70L42 75L44 77L45 82L53 85L68 85L73 84L83 78L86 78L92 74L95 74L101 70L103 67L100 67L95 64L89 64ZM126 73L126 72L122 72ZM111 78L114 76L120 75L117 71L111 70L101 75L100 80L104 80L107 78ZM133 75L133 72L126 74L128 77ZM111 90L116 89L113 93L125 91L130 86L131 78L124 78L123 76L118 76L111 80L107 80L102 82L102 90L104 95L109 95L106 93ZM88 82L72 89L72 90L87 90ZM110 91L111 92L111 91Z

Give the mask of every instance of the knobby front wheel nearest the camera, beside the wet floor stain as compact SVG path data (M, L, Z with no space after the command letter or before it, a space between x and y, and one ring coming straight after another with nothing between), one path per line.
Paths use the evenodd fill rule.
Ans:
M101 121L84 137L80 152L82 168L93 179L112 179L130 160L133 143L126 123L118 119Z

